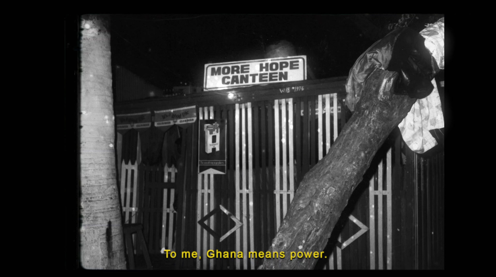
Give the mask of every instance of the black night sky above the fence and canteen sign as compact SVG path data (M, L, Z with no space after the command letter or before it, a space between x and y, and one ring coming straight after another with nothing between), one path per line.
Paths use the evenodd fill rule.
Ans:
M420 31L441 15L417 14ZM400 14L112 15L112 63L167 89L201 86L204 65L263 59L264 49L287 40L307 55L315 77L345 76L356 59L388 33ZM435 18L435 19L434 19Z

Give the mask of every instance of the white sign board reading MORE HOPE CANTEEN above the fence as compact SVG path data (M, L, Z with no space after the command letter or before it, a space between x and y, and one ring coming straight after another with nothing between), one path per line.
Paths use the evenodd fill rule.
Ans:
M218 90L307 79L307 56L206 64L203 88Z

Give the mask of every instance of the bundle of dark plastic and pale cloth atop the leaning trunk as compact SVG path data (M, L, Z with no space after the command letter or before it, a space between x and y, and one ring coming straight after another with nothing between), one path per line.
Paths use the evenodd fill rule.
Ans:
M444 18L420 34L409 28L392 31L365 51L350 69L346 105L355 110L367 78L376 68L399 73L394 93L419 98L399 125L406 144L423 153L437 144L429 130L444 127L434 75L444 69Z

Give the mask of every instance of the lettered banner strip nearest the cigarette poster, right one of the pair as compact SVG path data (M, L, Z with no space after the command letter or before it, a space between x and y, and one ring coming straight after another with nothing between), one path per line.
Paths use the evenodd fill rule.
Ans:
M174 124L186 128L196 121L196 106L155 111L155 127L167 131Z

